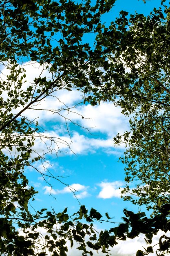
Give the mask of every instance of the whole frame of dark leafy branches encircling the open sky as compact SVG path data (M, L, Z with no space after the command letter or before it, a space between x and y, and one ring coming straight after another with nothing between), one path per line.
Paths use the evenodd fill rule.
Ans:
M101 16L115 0L97 0L94 6L90 0L0 1L0 65L8 70L0 78L0 255L44 256L50 252L65 256L67 240L71 247L79 243L82 255L93 255L92 250L99 249L108 253L118 240L143 233L150 243L159 229L170 230L170 8L164 2L162 9L154 9L148 17L121 11L105 27ZM90 33L95 35L94 47L84 39ZM24 62L42 67L33 83L25 81ZM62 89L80 90L84 103L92 105L113 101L131 117L131 131L115 138L116 144L123 138L127 145L121 159L126 164L126 182L139 180L137 188L131 191L127 185L125 189L139 200L125 199L152 208L152 218L124 210L118 227L97 234L93 221L103 220L95 209L88 212L81 206L73 216L68 216L67 209L31 212L29 203L37 192L28 186L24 170L45 160L45 153L33 152L35 137L44 135L24 112L36 111L38 103ZM58 142L54 137L46 139ZM48 234L43 236L41 228ZM170 238L161 236L157 253L169 247ZM145 252L139 250L137 256L150 252L152 246Z

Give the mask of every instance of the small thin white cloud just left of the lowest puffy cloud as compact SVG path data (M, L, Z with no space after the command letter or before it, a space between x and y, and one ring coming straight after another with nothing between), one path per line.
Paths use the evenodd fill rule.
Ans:
M52 194L52 195L58 195L58 194L66 194L66 193L75 193L76 197L78 199L86 198L89 196L88 193L88 186L81 185L79 183L74 183L69 186L65 186L64 189L53 189L51 186L44 186L44 194ZM80 193L79 193L80 192ZM73 194L74 197L74 194Z

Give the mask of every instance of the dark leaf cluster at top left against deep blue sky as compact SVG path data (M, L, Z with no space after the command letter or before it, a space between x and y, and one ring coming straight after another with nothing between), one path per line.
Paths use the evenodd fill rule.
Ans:
M93 7L90 1L85 4L65 0L0 2L1 61L11 60L15 65L16 60L37 61L46 65L52 76L52 79L35 78L31 105L56 88L83 88L86 92L93 83L97 85L100 56L82 39L102 29L100 17L114 2L97 1Z

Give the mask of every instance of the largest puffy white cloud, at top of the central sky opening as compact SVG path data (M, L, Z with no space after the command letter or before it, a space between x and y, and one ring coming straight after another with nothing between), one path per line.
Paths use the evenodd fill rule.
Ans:
M34 110L26 110L24 115L31 120L38 118L38 123L42 127L46 121L51 121L51 125L60 122L62 128L66 130L67 121L68 126L73 122L78 126L90 128L94 135L101 132L108 138L115 137L118 132L122 135L129 129L128 118L121 113L120 107L114 106L113 102L101 102L99 106L90 104L76 106L82 101L81 92L76 90L68 92L62 89L55 92L54 96L46 97L33 107ZM58 130L61 132L60 127Z

